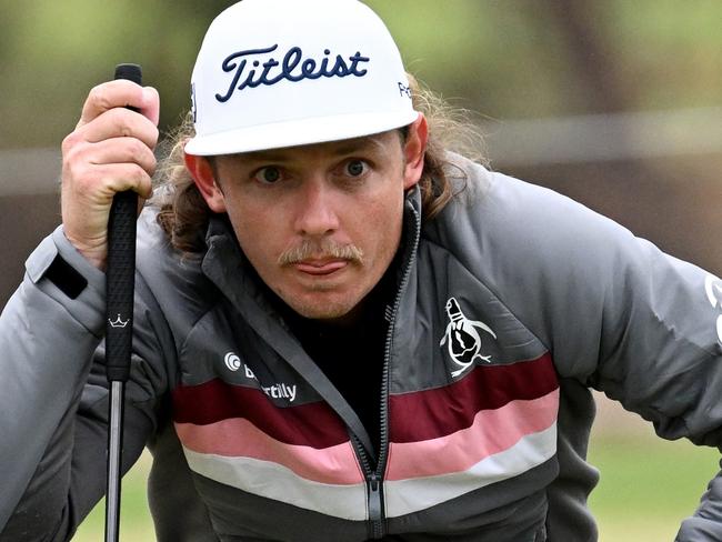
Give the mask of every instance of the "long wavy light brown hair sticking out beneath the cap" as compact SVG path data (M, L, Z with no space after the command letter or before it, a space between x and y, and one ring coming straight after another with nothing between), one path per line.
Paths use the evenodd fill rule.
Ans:
M432 220L463 190L465 183L463 171L449 160L448 153L455 152L472 161L487 163L483 137L469 120L468 111L450 107L412 76L409 79L414 109L424 113L429 123L429 141L419 188L423 219ZM405 128L400 132L405 138ZM183 147L193 134L189 113L163 143L166 158L160 161L156 172L156 195L150 201L160 209L158 223L171 244L189 255L205 250L205 230L213 212L198 191L183 160Z

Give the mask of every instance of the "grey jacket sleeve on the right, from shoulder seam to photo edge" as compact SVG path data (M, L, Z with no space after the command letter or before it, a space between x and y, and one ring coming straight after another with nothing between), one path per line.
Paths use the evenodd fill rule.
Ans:
M722 282L551 191L499 178L490 190L482 239L495 288L560 378L603 391L660 436L720 448ZM678 536L722 540L719 474Z

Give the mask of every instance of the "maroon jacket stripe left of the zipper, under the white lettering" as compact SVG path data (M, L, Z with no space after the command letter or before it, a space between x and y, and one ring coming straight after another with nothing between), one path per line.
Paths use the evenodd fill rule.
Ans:
M207 425L243 418L285 444L329 448L348 442L341 419L322 402L278 408L261 391L222 380L173 390L173 421Z

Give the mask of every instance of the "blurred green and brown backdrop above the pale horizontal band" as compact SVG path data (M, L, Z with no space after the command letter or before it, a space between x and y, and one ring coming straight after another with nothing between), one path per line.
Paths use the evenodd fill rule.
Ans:
M2 0L0 148L56 147L118 62L143 66L173 124L202 34L231 3ZM718 0L367 3L410 71L490 119L721 106Z

